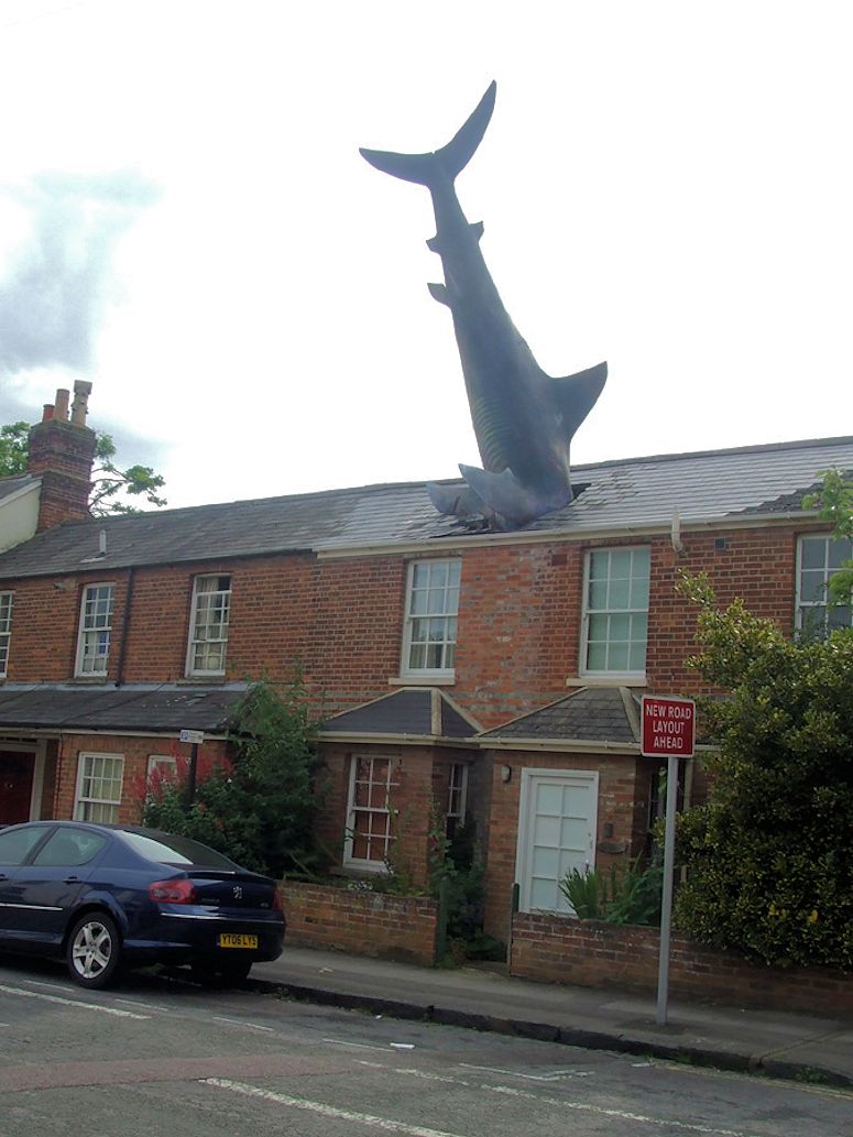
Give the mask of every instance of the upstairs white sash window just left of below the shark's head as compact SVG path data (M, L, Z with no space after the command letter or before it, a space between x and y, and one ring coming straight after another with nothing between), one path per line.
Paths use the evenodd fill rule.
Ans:
M462 562L414 561L408 570L403 674L453 679Z

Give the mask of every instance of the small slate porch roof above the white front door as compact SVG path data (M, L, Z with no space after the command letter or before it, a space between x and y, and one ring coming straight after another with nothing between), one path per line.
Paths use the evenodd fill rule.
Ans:
M478 741L486 746L490 740L516 739L638 746L638 707L636 696L627 687L581 687L539 711L485 731Z

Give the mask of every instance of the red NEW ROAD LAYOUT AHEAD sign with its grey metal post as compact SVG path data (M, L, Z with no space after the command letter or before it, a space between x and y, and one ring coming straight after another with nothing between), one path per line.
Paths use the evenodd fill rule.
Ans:
M661 948L657 960L659 1027L666 1026L666 996L670 976L670 933L672 930L672 877L676 862L676 805L678 803L678 760L691 758L696 744L696 704L693 699L655 698L644 695L640 702L640 754L666 755L666 816L663 839L663 894L661 897Z

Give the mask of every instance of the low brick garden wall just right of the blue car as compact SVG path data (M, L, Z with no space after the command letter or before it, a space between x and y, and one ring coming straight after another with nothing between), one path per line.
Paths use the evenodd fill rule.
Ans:
M431 966L438 905L428 897L282 883L287 943Z

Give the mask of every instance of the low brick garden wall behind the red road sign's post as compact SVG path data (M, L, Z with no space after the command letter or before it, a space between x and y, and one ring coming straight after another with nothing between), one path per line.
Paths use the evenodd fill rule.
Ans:
M516 913L510 970L540 982L657 990L659 933L545 913ZM765 968L712 952L673 933L670 994L785 1011L853 1018L853 973L819 968Z

